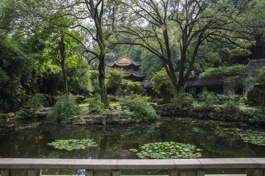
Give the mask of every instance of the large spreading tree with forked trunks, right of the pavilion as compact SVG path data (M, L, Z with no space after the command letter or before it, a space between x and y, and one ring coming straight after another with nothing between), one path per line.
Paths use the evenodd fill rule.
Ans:
M262 0L132 0L128 2L131 17L123 25L123 35L119 34L119 42L115 44L141 45L159 57L176 96L184 91L204 41L248 47L250 43L246 39L251 40L253 34L261 32L258 26L264 25L260 24L264 21L259 16L264 13L253 14L261 6L264 6ZM247 23L250 12L252 18L259 16L256 24ZM174 42L179 44L176 46L180 50L179 58L172 57ZM174 70L176 59L180 60L179 70ZM178 79L175 71L179 72Z

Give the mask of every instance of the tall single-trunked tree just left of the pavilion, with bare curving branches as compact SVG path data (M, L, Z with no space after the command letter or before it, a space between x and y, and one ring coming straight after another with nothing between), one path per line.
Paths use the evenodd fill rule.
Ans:
M121 21L121 15L118 15L119 0L84 0L68 4L69 12L65 16L74 17L74 25L58 25L80 30L83 35L89 36L86 41L80 41L70 35L84 48L83 56L89 63L94 59L99 61L99 86L101 91L101 101L106 107L109 107L106 85L105 85L105 57L106 41L113 35L116 26ZM118 20L119 19L119 20Z

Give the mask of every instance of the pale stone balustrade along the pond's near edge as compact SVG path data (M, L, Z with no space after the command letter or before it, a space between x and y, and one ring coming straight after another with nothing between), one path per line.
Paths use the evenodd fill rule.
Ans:
M265 158L26 159L0 158L1 176L41 176L41 169L85 169L85 176L120 176L121 170L168 170L169 176L204 176L205 169L245 168L265 176Z

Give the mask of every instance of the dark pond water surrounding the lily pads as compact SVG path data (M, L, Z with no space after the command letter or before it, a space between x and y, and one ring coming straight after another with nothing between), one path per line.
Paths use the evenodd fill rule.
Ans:
M196 145L203 149L203 158L265 157L265 146L243 142L242 137L250 135L265 136L265 127L183 117L163 117L154 123L106 127L22 120L0 124L0 157L137 159L137 152L129 149L139 150L143 144L165 141ZM94 139L98 146L67 151L47 145L58 139L83 138ZM43 171L44 174L51 172ZM65 174L59 170L53 172ZM76 170L70 174L82 172Z

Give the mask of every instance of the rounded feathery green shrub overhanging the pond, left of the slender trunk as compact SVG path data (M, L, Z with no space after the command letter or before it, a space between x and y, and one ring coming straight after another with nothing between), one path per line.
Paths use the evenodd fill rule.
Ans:
M58 98L53 106L53 111L48 114L47 119L60 122L79 112L80 108L77 107L77 102L74 97L65 94Z

